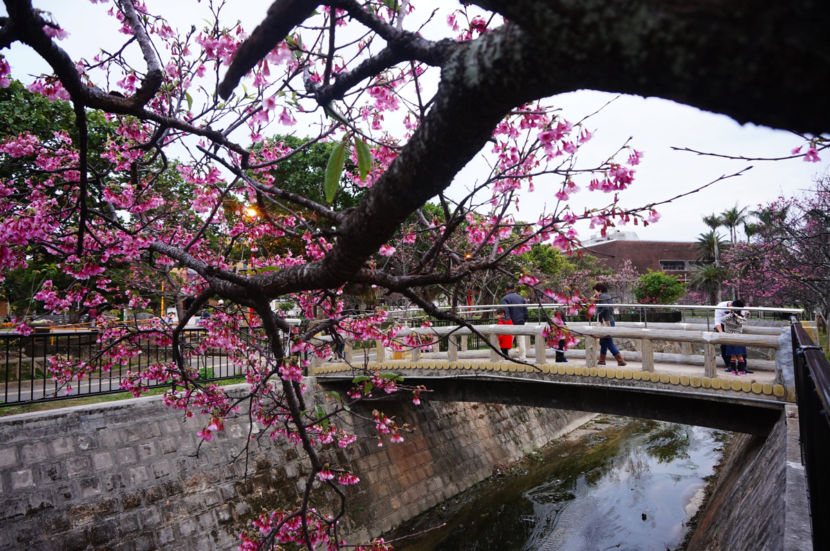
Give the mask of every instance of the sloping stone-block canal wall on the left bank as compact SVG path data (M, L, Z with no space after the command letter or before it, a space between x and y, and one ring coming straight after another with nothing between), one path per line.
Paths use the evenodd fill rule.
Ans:
M325 396L310 392L307 401ZM325 450L332 465L350 465L361 479L345 489L352 516L343 522L360 539L590 418L470 403L384 402L382 409L413 426L403 444L378 447L367 438L347 452ZM358 434L370 434L353 421ZM184 420L158 397L0 419L0 550L235 549L261 508L298 502L309 465L293 446L267 437L251 442L247 461L237 458L249 431L256 435L244 416L199 447L203 422ZM334 498L322 485L312 495L326 512Z

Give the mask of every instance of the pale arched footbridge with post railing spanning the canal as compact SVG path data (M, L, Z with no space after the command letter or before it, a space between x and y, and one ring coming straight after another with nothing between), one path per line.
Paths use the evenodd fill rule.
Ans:
M528 362L507 362L496 357L495 352L465 350L464 343L459 343L471 334L465 327L402 332L449 336L448 352L415 352L412 357L404 357L402 352L389 354L378 349L374 351L374 362L368 355L364 358L369 359L369 369L396 372L408 385L426 386L428 391L422 393L422 400L591 411L760 436L769 434L784 406L794 400L789 327L748 327L744 335L726 335L689 324L620 325L623 327L569 324L583 336L586 347L584 351L571 352L567 363L549 358L553 351L545 347L540 325L476 327L491 339L508 332L519 338L535 337L535 347L531 350L528 346ZM604 336L637 339L642 342L640 352L627 354L631 362L626 367L598 365L597 341ZM684 351L691 350L691 345L702 344L704 354L701 357L653 352L654 341L680 342ZM774 351L775 360L750 362L755 364L753 374L733 376L718 368L716 344L769 349ZM352 362L316 362L310 375L315 375L326 390L346 391L352 386L352 378L359 374L349 366L359 360L356 352L346 352L347 360ZM398 359L394 359L396 356ZM535 361L537 357L540 362ZM378 358L384 361L378 362ZM401 398L391 395L380 399Z

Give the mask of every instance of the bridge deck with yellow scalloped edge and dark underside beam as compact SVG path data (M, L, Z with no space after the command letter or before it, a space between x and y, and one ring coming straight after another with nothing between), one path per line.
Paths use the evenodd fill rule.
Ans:
M422 400L478 401L553 407L643 417L767 435L778 421L788 394L772 371L751 376L701 376L698 366L658 364L642 371L626 367L588 368L584 362L529 366L515 362L397 360L369 363L369 369L394 371L408 385L423 385ZM346 363L313 367L310 375L325 388L347 391L359 371ZM397 394L374 396L400 400ZM406 399L406 398L404 398Z

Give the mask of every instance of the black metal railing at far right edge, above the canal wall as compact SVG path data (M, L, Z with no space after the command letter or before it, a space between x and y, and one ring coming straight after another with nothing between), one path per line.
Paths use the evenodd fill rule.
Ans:
M813 549L830 549L830 362L794 317L790 327Z

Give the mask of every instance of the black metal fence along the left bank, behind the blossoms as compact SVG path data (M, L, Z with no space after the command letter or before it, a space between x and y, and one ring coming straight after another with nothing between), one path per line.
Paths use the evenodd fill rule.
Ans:
M243 338L258 337L256 327L246 327ZM121 381L127 371L139 371L157 362L173 359L172 347L161 347L147 340L139 341L141 353L110 371L101 369L104 362L93 360L93 371L82 381L72 381L71 391L66 392L52 380L49 362L56 356L67 360L90 360L101 350L96 331L55 332L37 330L27 337L14 333L0 333L0 399L4 404L23 401L53 401L79 396L113 394L123 392ZM196 347L207 335L201 328L188 329L183 332L184 349ZM221 349L207 350L188 358L190 365L198 372L201 381L220 381L244 376L244 372L233 362L229 362L227 353ZM149 387L159 385L155 381L144 381Z

